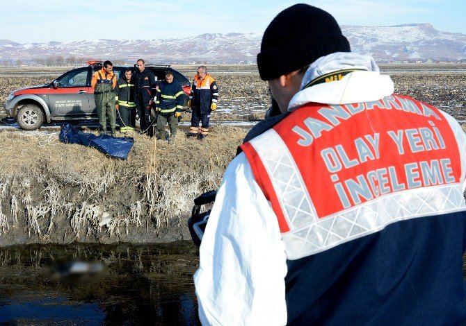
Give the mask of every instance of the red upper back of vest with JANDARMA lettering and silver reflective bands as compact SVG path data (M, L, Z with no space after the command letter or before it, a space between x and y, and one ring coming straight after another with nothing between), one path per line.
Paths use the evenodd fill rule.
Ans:
M370 103L309 103L243 144L288 259L396 221L465 210L466 138L448 119L396 94Z

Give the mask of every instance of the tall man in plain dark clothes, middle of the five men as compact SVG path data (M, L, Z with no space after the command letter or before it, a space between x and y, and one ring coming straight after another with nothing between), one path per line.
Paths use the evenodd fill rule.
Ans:
M143 59L138 60L136 67L138 69L136 69L136 75L134 76L134 92L140 119L140 130L147 130L147 135L152 137L150 100L155 96L155 76L152 71L145 69Z

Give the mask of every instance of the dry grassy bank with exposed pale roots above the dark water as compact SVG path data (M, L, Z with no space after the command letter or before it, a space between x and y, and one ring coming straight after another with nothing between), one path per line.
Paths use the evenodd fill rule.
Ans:
M182 130L172 144L135 135L123 161L57 133L1 132L0 246L190 239L193 198L217 189L245 135L228 126L204 141Z

